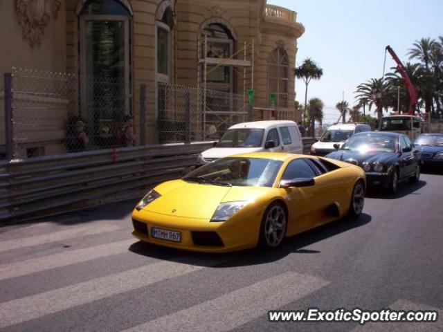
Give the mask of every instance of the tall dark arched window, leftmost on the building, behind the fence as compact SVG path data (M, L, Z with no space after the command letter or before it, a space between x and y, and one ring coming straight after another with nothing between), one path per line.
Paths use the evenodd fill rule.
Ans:
M113 145L114 127L132 113L130 21L127 0L79 2L80 113L96 144Z

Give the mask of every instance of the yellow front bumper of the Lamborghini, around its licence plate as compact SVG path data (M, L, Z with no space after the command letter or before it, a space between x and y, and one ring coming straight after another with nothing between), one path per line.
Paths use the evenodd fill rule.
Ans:
M253 218L243 220L233 218L224 222L210 222L206 219L191 219L134 210L132 219L146 224L146 230L141 230L140 227L135 227L134 223L132 234L137 239L159 246L197 252L233 252L254 248L257 246L258 232L260 231L260 220L253 220ZM151 236L152 228L180 232L181 241L156 239ZM221 243L213 241L210 246L195 243L196 233L201 236L203 232L208 232L211 237L218 237L221 239Z

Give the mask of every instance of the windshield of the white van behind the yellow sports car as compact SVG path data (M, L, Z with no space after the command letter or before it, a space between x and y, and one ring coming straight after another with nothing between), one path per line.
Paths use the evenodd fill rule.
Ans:
M217 147L261 147L264 129L229 129L219 140Z

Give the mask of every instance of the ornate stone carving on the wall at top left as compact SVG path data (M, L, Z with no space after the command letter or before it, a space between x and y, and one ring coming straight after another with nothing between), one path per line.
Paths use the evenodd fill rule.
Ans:
M15 13L23 37L31 47L42 44L44 29L51 19L57 19L61 0L15 0Z

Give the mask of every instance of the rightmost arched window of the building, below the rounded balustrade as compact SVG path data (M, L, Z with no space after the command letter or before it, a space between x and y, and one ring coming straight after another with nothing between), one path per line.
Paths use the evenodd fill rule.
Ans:
M275 94L275 105L269 100L269 107L288 106L289 60L283 48L272 51L268 59L268 95Z

